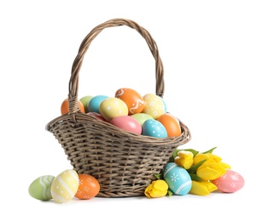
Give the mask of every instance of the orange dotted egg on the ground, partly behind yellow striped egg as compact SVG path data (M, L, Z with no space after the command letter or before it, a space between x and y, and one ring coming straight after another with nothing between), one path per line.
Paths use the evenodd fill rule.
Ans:
M89 174L79 173L79 190L75 196L81 200L89 200L100 191L97 179Z

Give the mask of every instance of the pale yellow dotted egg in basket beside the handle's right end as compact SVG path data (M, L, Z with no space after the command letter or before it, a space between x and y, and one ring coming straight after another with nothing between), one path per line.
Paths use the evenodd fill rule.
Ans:
M165 113L165 105L160 96L156 94L145 94L143 100L145 101L143 113L152 116L154 119Z

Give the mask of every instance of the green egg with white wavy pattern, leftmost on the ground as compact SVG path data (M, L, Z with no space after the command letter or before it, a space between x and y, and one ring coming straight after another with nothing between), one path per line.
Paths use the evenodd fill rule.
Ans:
M52 199L50 186L54 179L51 175L36 178L28 187L29 195L40 201L49 201Z

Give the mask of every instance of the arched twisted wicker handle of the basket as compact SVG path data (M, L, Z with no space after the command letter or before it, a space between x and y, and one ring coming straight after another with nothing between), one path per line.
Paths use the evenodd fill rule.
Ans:
M155 94L163 97L164 90L165 90L165 83L164 83L164 68L162 61L160 59L158 47L154 42L154 39L151 37L149 32L144 29L142 26L139 26L133 20L125 20L125 19L113 19L108 20L102 23L99 26L96 26L94 29L90 31L90 33L84 38L83 42L81 42L79 47L79 53L77 54L76 58L73 61L72 66L72 73L69 81L69 113L74 113L79 111L78 105L78 89L79 89L79 71L83 63L84 54L88 50L90 43L93 39L104 29L108 27L114 26L128 26L135 30L137 30L141 36L146 40L148 43L148 47L155 59L155 80L156 80L156 88Z

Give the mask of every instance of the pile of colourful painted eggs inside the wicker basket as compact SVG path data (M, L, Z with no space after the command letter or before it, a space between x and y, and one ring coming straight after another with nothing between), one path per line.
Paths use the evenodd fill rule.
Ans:
M61 104L61 115L68 112L68 100ZM79 99L85 114L109 122L131 133L155 138L177 137L181 134L176 116L167 112L166 102L156 94L141 95L131 88L119 88L113 97L87 95Z

